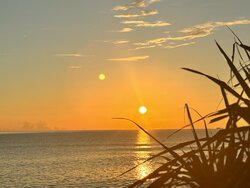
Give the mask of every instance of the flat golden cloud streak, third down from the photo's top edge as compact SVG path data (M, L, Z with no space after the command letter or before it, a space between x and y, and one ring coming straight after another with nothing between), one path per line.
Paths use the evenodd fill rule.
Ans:
M121 23L130 24L135 27L164 27L171 25L170 23L164 21L146 22L142 20L131 20L131 21L129 20L129 21L123 21Z

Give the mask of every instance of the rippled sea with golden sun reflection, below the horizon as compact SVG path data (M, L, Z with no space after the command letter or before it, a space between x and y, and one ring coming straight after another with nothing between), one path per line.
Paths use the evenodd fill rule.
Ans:
M193 138L184 130L166 139L173 131L151 133L167 146ZM119 175L160 151L141 131L2 133L0 187L127 187L159 163Z

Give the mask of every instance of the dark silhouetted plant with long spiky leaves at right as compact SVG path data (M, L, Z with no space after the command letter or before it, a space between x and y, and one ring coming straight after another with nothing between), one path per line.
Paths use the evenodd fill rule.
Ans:
M140 187L145 185L148 180L152 181L148 187L250 187L250 47L243 44L233 31L232 33L236 39L233 44L231 58L216 42L231 71L231 77L228 82L196 70L183 68L192 73L205 76L217 84L221 89L225 108L193 121L190 108L186 104L185 109L189 124L174 134L185 127L190 127L194 140L180 143L173 147L167 147L136 122L132 121L164 148L162 152L150 157L143 163L156 157L163 157L166 161L148 176L136 181L130 187ZM245 53L244 57L247 58L247 61L244 61L242 52ZM238 67L235 63L236 53L239 56ZM230 100L228 98L229 94L232 96ZM206 120L209 119L209 123L214 123L226 118L225 127L220 129L214 136L210 136ZM246 125L239 125L240 120L244 120ZM200 121L203 121L205 127L206 134L204 138L198 138L195 129L195 124ZM195 148L193 147L194 145L196 145ZM186 148L187 146L190 146L191 149L184 152L184 147ZM180 150L183 151L183 154L178 152Z

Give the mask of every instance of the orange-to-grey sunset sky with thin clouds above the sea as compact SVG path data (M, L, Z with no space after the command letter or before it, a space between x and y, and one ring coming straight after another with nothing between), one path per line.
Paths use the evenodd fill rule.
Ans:
M249 0L1 0L0 131L135 128L116 117L172 129L184 125L185 103L214 111L219 88L181 67L227 80L214 40L231 53L227 25L248 43L249 7Z

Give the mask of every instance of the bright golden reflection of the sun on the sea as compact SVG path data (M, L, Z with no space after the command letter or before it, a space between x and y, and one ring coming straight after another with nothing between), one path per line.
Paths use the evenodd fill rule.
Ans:
M136 142L136 158L135 165L143 162L150 157L151 140L148 135L142 131L137 132L137 142ZM150 163L144 163L136 168L137 179L142 179L152 172L152 166Z

